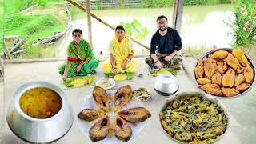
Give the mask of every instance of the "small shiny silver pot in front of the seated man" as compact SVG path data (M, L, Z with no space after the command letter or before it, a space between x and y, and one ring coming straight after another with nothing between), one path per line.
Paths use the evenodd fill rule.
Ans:
M172 74L159 74L154 83L154 90L163 96L170 96L178 91L177 78Z

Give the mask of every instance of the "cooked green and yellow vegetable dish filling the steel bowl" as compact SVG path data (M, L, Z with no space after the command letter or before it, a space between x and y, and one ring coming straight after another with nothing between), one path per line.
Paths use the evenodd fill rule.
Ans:
M199 96L175 99L160 112L163 129L184 143L210 143L225 133L228 118L214 102Z

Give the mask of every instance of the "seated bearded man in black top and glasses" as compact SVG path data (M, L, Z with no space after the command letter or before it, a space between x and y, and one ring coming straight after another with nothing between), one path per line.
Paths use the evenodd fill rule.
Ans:
M146 64L157 66L158 69L174 68L180 70L182 57L178 51L182 49L182 39L178 31L168 27L166 16L157 18L158 31L153 35L150 44L150 58Z

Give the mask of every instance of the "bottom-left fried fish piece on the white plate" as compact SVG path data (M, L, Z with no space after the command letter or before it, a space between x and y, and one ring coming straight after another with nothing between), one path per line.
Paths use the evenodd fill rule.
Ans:
M89 130L89 137L92 142L101 141L102 139L106 138L106 135L109 133L110 130L110 117L106 115L98 122L94 123Z

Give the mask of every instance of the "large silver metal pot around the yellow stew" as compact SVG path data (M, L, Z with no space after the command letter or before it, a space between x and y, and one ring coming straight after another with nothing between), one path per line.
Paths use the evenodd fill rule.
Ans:
M38 87L54 90L62 99L61 109L50 118L32 118L25 114L19 105L22 94ZM10 130L18 138L31 143L50 143L62 138L70 130L74 121L74 112L66 94L58 86L49 82L30 82L18 88L14 93L14 99L10 103L6 119Z

